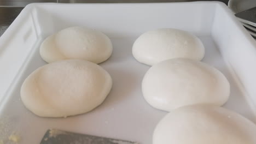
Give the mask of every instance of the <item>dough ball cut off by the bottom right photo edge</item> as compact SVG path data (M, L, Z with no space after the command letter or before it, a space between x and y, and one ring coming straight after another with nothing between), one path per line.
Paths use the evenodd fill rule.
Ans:
M153 144L255 144L256 125L219 106L185 106L158 123Z

